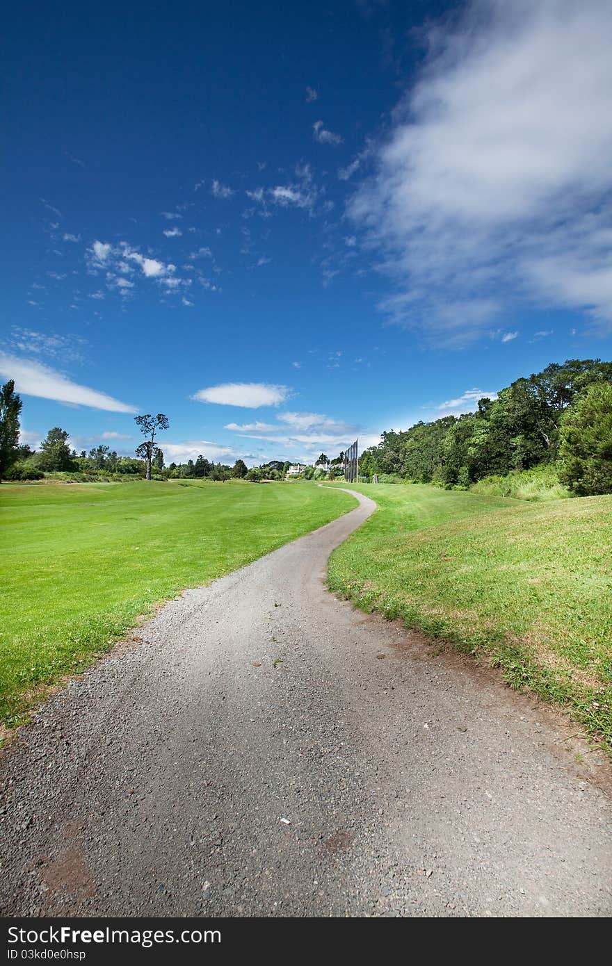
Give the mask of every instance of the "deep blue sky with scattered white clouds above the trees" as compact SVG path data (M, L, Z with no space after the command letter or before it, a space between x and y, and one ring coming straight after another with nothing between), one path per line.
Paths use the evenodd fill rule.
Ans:
M610 358L603 0L8 14L0 377L23 439L335 455Z

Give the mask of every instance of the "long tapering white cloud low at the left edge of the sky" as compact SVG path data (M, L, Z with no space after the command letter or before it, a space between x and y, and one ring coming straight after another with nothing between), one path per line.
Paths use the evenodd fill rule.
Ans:
M89 406L108 412L138 412L135 407L121 403L97 389L73 383L62 373L33 359L0 353L0 375L5 379L14 379L15 390L26 396L38 396L41 399L53 399L58 403Z

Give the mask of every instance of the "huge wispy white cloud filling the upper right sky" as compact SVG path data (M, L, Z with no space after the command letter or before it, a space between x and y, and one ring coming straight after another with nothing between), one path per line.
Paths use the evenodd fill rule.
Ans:
M438 344L517 301L612 326L608 0L477 0L452 22L349 208L395 282L382 307Z

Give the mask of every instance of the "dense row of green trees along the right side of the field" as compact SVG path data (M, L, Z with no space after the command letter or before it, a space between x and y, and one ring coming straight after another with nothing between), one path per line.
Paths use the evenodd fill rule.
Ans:
M384 432L360 473L468 487L548 463L579 496L612 493L612 362L553 362L482 398L477 412Z

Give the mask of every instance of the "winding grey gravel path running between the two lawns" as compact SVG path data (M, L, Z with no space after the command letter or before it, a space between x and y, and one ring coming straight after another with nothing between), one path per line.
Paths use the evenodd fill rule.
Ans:
M325 590L359 499L168 604L21 729L5 916L612 912L603 766L490 673Z

